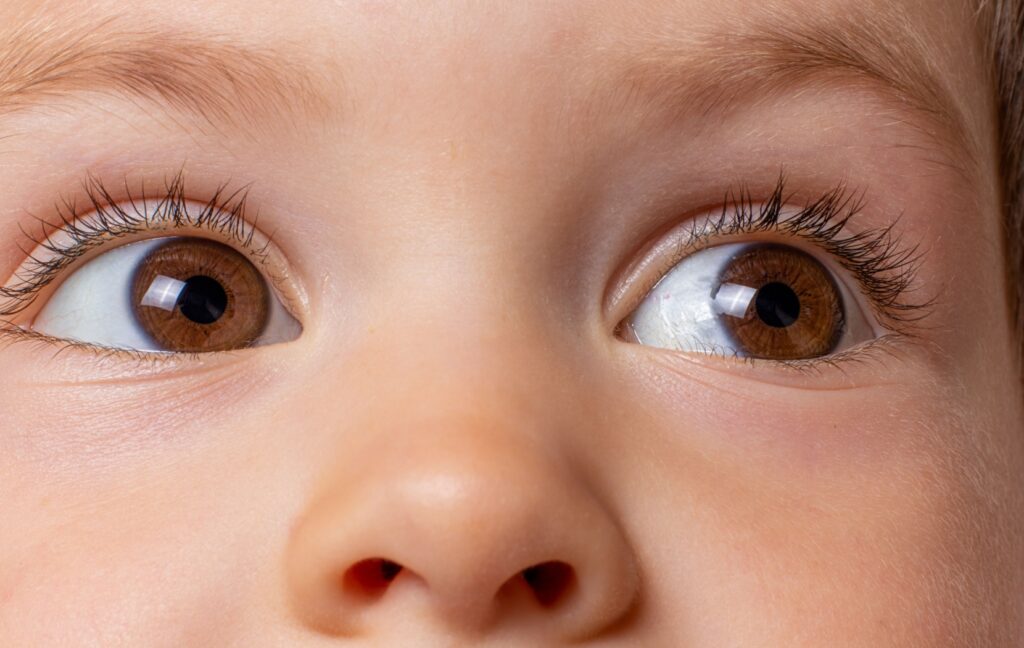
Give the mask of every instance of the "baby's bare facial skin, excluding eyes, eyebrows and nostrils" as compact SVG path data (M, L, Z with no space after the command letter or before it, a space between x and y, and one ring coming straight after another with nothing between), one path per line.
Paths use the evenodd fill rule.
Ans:
M1024 641L1024 393L961 3L886 4L947 44L970 163L841 81L643 124L588 102L630 35L757 20L738 1L58 4L272 45L319 117L19 114L0 269L86 173L184 164L196 200L251 183L304 331L159 361L2 347L0 644ZM55 7L4 2L0 25ZM913 335L802 371L616 337L656 280L629 278L644 250L782 167L797 203L865 190L855 229L900 216L935 298ZM383 594L345 585L374 558L403 568ZM519 576L546 561L574 573L550 607Z

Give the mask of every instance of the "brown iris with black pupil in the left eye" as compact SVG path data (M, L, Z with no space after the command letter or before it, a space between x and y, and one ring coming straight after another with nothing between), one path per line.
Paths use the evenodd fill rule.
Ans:
M251 346L270 314L260 271L206 239L172 239L154 249L136 268L131 290L135 318L167 351Z

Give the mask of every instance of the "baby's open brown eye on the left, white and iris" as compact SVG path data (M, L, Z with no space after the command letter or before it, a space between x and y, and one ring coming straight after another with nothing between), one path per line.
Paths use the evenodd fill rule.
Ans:
M244 254L190 236L101 254L56 289L30 328L97 346L182 353L287 342L302 331Z

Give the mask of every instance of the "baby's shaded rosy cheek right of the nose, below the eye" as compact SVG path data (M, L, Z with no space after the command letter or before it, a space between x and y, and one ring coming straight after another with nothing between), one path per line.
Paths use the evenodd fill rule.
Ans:
M717 645L1012 643L1012 420L938 387L760 401L708 387L634 394L644 406L617 424L651 431L617 451L636 458L620 482L645 503L624 515L656 566L652 614L684 602Z

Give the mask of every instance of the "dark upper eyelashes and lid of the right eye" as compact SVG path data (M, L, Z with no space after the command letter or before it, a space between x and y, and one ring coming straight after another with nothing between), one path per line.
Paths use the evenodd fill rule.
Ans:
M934 300L910 301L918 290L923 253L918 246L903 245L894 231L895 221L884 227L849 232L850 221L863 211L864 198L863 193L851 192L845 184L788 216L783 210L793 197L785 186L785 176L781 175L767 201L755 201L745 188L727 193L720 213L687 232L658 275L718 240L780 234L814 244L853 274L880 316L879 323L887 330L908 334L914 323L927 317Z

